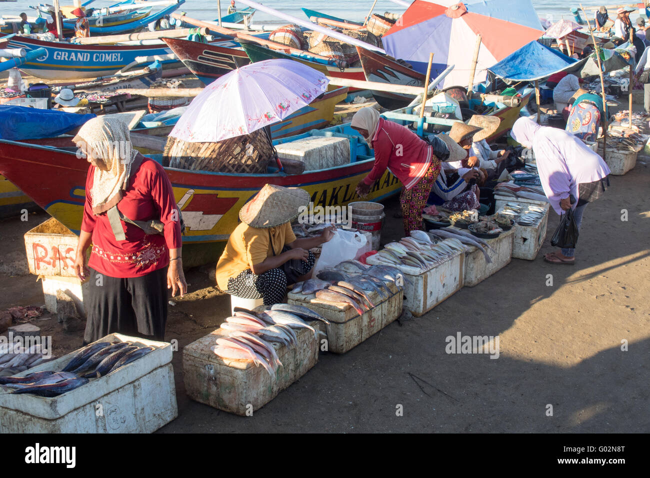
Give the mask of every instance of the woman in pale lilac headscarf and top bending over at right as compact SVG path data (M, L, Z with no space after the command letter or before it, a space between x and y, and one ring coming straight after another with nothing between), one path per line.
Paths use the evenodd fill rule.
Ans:
M579 230L585 207L599 198L609 185L610 169L603 158L571 133L539 126L530 118L515 121L510 135L525 148L532 148L541 186L551 207L558 214L573 208ZM573 204L571 196L575 198ZM572 265L575 249L563 248L545 254L544 260Z

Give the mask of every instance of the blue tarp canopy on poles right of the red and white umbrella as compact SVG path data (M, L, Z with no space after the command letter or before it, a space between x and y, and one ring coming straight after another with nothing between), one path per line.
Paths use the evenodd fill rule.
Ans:
M500 78L512 81L535 81L558 72L577 72L586 59L576 60L535 41L510 53L487 68Z

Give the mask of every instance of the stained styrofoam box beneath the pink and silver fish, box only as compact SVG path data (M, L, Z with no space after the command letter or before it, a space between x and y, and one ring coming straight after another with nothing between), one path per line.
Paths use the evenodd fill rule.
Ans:
M315 322L310 322L316 326ZM318 362L318 341L311 330L295 330L296 345L272 343L279 365L275 377L250 360L227 360L214 354L216 339L226 337L222 328L200 338L183 349L185 392L200 403L245 416L274 399Z

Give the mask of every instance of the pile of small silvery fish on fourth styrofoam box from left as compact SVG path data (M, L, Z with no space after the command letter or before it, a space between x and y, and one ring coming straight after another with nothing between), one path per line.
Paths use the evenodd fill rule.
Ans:
M465 246L456 239L439 241L437 237L424 231L411 231L411 237L388 243L372 259L387 265L408 265L421 271L429 271L465 250Z

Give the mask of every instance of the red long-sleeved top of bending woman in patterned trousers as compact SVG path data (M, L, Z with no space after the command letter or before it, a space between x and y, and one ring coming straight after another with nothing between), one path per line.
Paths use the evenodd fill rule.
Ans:
M411 189L431 164L431 146L407 127L395 122L380 118L371 144L374 166L363 178L367 185L381 178L388 168L406 189Z

